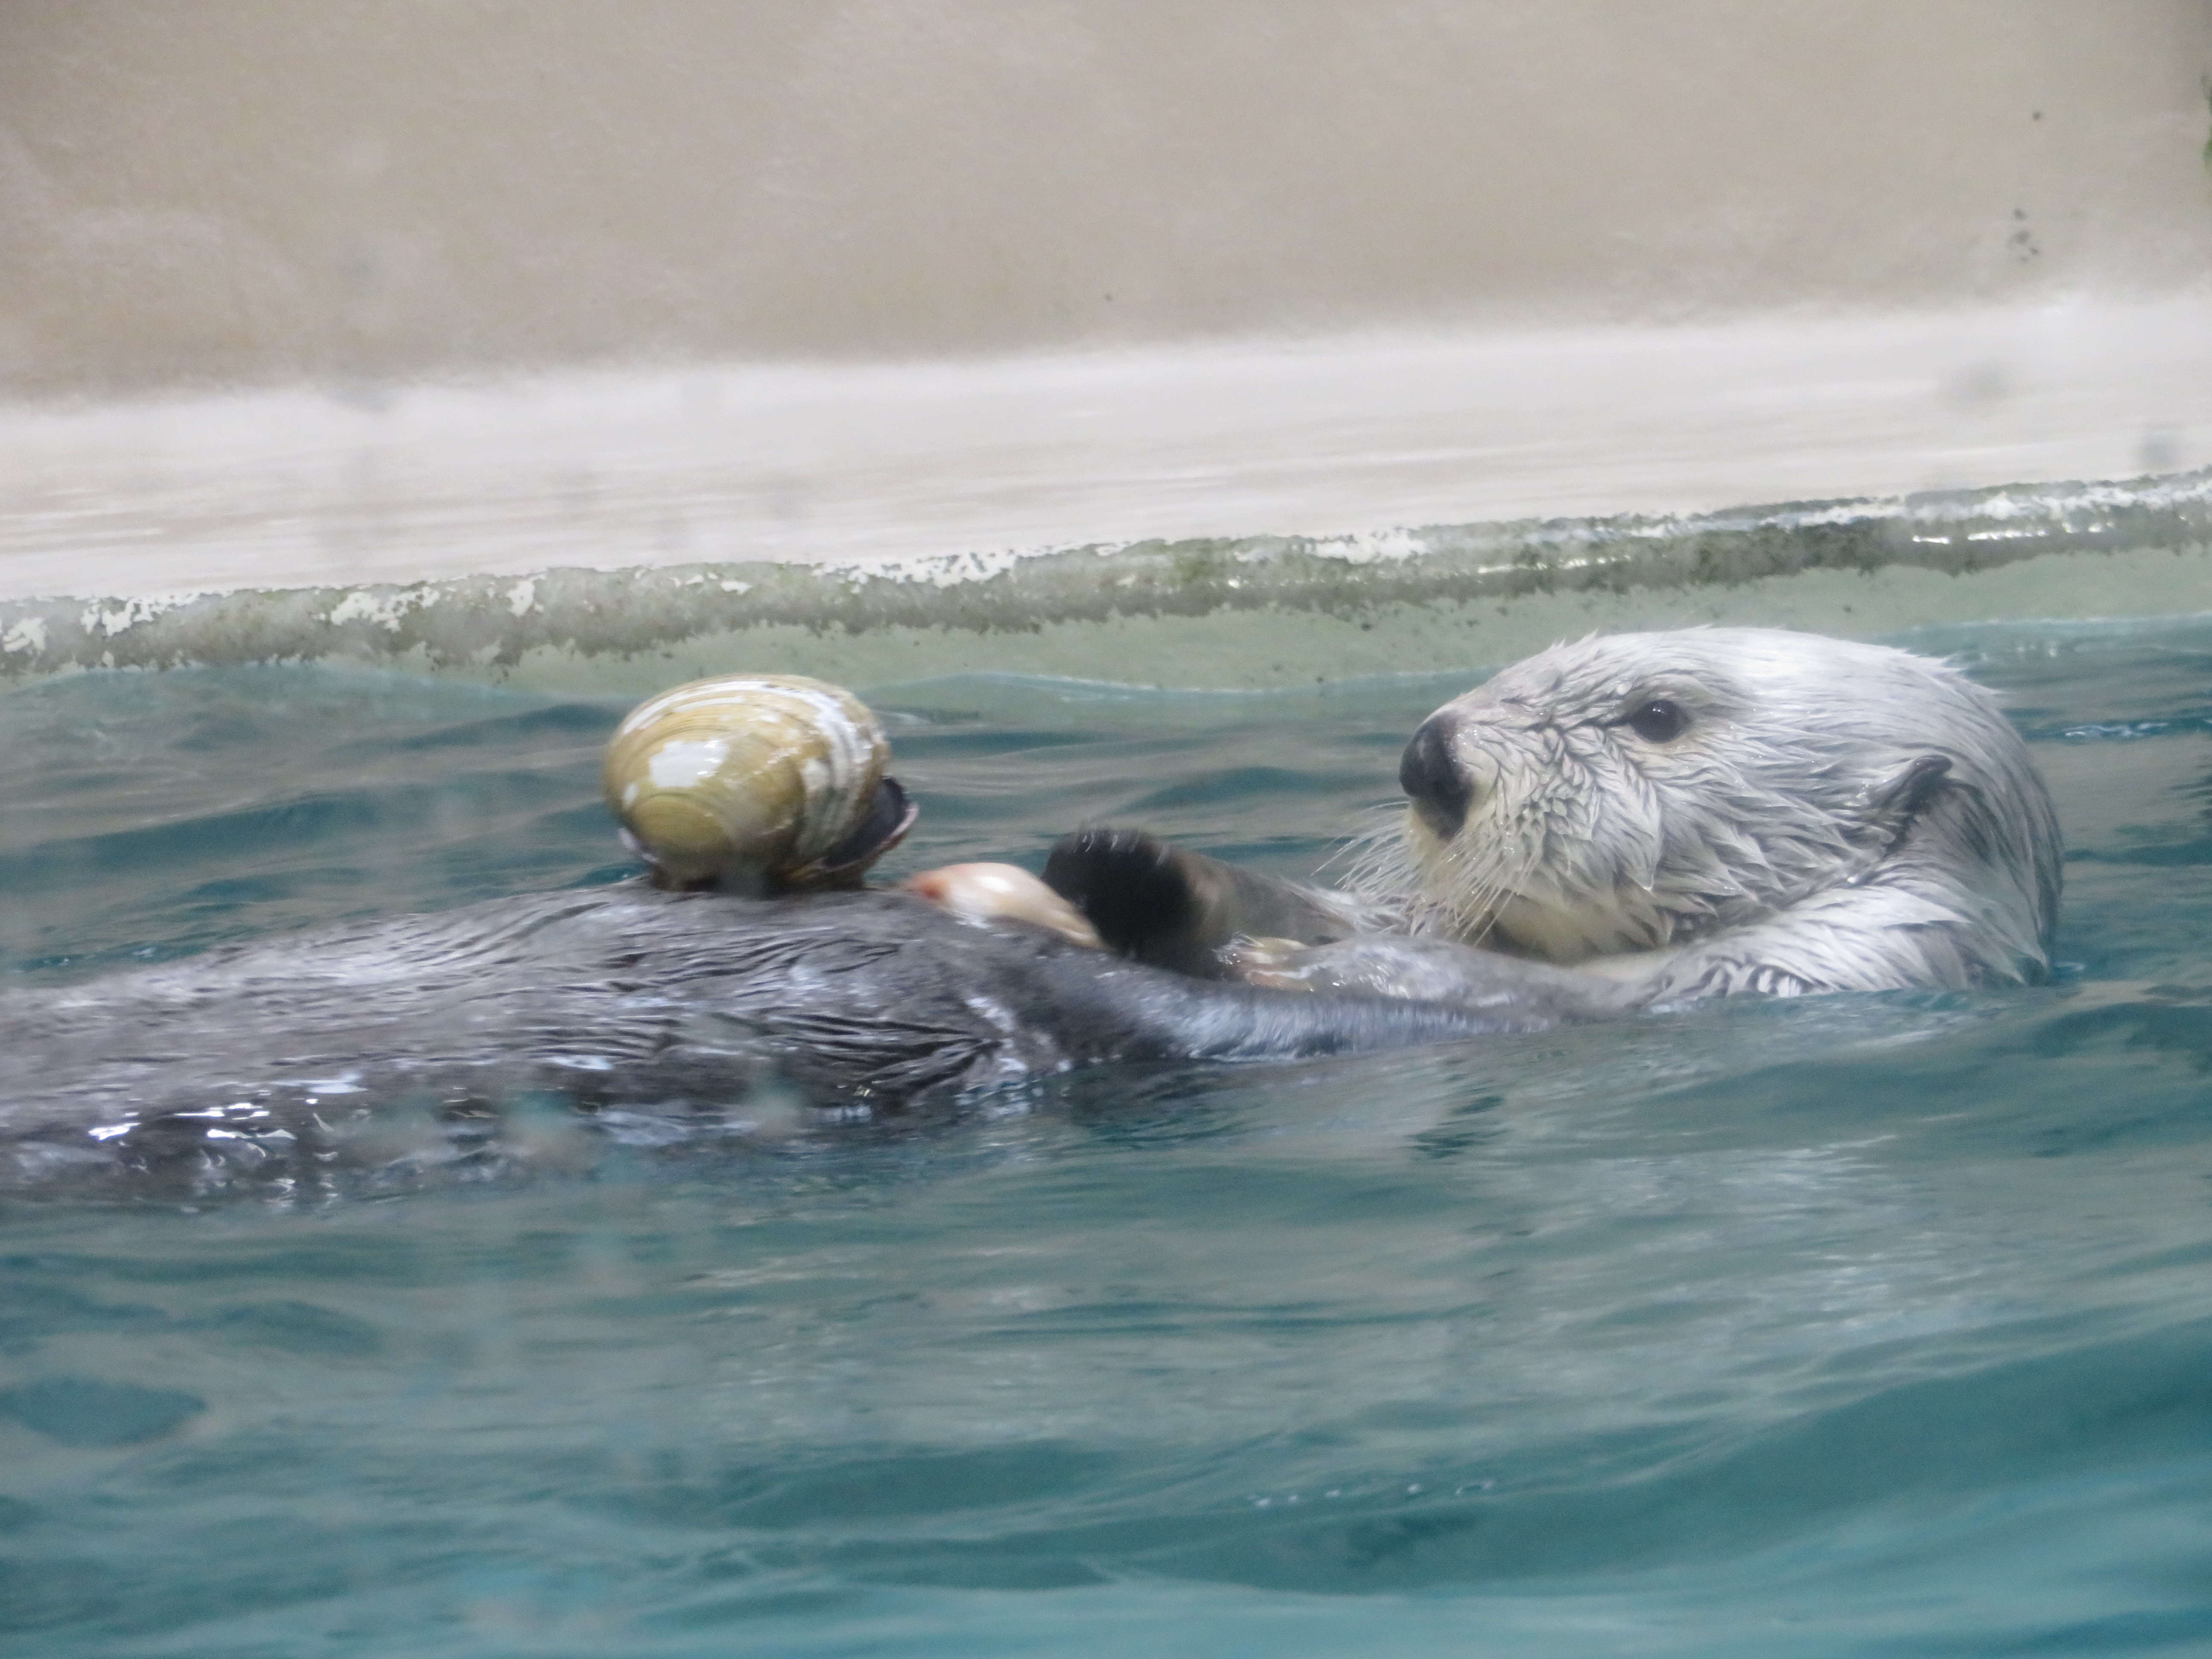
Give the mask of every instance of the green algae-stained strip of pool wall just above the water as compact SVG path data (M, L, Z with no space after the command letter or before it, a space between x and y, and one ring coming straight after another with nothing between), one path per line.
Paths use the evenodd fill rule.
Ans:
M1431 526L911 564L695 564L0 604L0 672L369 661L644 692L730 670L1239 688L1747 622L1847 637L2212 611L2212 473L1701 518Z

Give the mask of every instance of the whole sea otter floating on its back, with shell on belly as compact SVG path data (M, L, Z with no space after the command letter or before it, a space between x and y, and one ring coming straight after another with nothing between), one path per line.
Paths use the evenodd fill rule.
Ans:
M845 719L812 681L719 681L641 712L670 706L635 776L611 770L617 810L675 803L675 827L635 814L650 880L0 995L0 1144L29 1175L265 1159L389 1104L681 1108L774 1077L827 1106L900 1106L1097 1062L2048 973L2059 836L2026 748L1960 672L1878 646L1714 628L1553 648L1420 726L1405 823L1347 891L1091 830L1046 867L1082 920L975 869L918 880L953 909L860 889L911 805L852 787L830 739L836 763L810 759L816 717ZM697 728L706 706L734 721ZM783 734L745 750L761 732ZM719 825L765 825L737 845L779 863L741 883L679 869L706 845L706 790L728 794ZM763 816L816 794L852 823Z

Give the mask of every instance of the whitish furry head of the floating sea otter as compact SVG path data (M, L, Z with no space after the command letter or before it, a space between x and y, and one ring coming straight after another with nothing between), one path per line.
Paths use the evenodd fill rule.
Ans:
M1407 743L1369 887L1553 962L1686 945L1843 887L1918 885L2039 958L2059 838L2026 745L1958 670L1692 628L1553 646Z

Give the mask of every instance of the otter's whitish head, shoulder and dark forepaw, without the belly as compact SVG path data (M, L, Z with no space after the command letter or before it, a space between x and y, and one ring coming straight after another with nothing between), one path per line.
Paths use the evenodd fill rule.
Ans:
M1436 710L1347 891L1084 830L1046 883L1183 973L1586 1015L2035 984L2059 827L1958 668L1776 628L1562 644Z

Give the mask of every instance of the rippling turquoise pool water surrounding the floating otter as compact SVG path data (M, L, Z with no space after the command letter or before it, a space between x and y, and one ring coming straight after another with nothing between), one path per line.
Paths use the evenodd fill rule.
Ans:
M967 1113L0 1210L35 1655L2212 1648L2212 626L1916 641L2070 841L2059 984L1741 1002ZM1473 675L878 688L902 867L1082 818L1305 872ZM619 708L0 695L53 982L624 874Z

